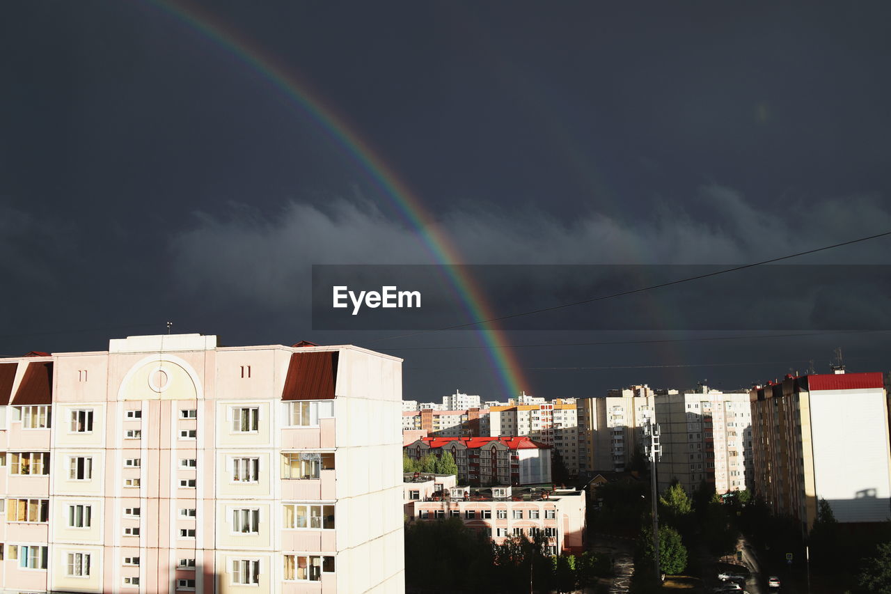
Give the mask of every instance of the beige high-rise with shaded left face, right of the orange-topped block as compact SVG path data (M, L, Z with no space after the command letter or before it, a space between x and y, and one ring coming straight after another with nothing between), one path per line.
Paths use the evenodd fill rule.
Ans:
M643 384L576 400L579 468L584 473L625 471L641 448L642 428L655 414L658 393L677 391L656 391Z

